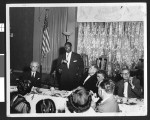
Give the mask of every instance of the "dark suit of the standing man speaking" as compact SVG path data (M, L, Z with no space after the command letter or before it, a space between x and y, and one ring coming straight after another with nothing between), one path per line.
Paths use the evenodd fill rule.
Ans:
M84 70L84 64L81 56L72 52L69 68L66 63L61 63L66 60L66 53L58 58L57 70L62 69L60 77L60 89L72 90L80 85L80 78Z

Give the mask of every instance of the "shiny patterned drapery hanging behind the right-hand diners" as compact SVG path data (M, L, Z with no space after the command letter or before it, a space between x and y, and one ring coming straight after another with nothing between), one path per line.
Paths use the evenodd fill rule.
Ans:
M144 22L78 23L79 54L87 54L89 65L101 55L113 66L134 67L144 58Z

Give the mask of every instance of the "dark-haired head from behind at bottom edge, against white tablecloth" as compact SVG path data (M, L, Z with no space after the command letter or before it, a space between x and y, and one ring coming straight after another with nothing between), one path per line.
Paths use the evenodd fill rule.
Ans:
M36 104L36 113L56 113L54 101L51 99L40 100Z

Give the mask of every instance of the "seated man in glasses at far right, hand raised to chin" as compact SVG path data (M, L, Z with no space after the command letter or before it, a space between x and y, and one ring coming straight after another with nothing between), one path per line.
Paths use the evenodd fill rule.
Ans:
M140 80L136 77L130 77L129 69L122 70L121 76L123 77L116 84L116 95L129 98L141 98L143 96Z

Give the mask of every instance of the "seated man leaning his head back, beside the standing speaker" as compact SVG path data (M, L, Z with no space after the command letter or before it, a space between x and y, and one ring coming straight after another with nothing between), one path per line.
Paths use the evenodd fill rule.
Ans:
M84 86L87 90L92 90L94 93L97 92L97 76L96 72L98 71L98 67L96 65L92 65L88 72L85 73L82 77L82 86Z

